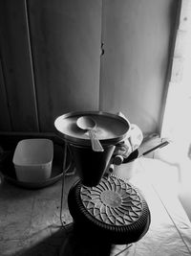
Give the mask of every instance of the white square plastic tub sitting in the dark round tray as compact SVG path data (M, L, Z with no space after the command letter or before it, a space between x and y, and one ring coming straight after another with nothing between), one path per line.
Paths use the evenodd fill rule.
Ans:
M20 141L12 162L19 181L39 182L49 178L53 165L53 142L49 139Z

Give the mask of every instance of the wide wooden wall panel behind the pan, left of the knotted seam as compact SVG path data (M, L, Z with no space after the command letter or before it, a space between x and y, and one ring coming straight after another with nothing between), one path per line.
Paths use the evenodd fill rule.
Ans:
M40 127L57 116L97 110L101 0L29 0Z

